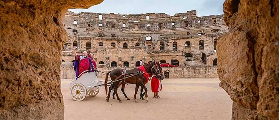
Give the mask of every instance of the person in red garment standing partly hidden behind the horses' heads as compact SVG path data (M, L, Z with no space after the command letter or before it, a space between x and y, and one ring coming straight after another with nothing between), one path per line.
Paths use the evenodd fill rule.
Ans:
M153 98L160 98L159 91L162 90L162 83L161 80L156 78L155 76L152 77L151 79L151 90L154 92L154 97Z

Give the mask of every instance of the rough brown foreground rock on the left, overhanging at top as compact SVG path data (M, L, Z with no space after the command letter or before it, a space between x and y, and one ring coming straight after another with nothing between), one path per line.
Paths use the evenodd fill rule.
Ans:
M0 119L63 119L64 16L102 1L0 1Z

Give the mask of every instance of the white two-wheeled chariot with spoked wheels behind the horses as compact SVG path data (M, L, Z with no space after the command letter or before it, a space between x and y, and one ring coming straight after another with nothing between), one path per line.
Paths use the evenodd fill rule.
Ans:
M86 70L89 71L89 70ZM70 82L70 95L75 101L82 101L86 95L94 97L99 93L100 86L104 80L97 80L97 71L95 72L82 72L79 78L73 78Z

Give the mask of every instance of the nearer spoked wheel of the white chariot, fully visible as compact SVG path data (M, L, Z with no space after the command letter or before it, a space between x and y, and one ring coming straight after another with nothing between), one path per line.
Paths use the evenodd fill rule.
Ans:
M86 87L81 83L76 83L71 86L70 94L75 101L82 101L86 97Z

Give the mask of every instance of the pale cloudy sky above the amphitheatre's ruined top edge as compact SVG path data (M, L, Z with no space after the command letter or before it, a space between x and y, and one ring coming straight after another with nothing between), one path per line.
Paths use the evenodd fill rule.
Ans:
M75 13L167 13L173 16L175 13L185 13L196 10L197 16L223 14L225 0L104 0L101 4L88 9L69 9Z

